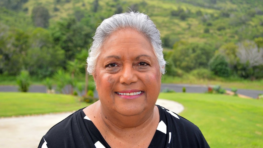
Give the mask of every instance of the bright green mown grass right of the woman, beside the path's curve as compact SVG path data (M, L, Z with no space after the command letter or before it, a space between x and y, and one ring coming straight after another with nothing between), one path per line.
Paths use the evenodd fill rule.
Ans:
M263 100L194 93L160 93L182 103L180 114L196 124L211 147L263 147Z

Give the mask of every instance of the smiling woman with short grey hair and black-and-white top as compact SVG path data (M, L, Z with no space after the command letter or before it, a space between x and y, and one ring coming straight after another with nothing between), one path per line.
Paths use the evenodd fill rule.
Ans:
M147 15L114 15L93 39L87 63L99 101L52 127L39 148L209 147L193 123L155 105L166 62Z

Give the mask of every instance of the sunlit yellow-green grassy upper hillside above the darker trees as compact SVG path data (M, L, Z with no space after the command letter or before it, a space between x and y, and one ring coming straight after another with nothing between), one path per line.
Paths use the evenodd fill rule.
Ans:
M30 26L32 9L38 5L49 10L51 24L63 17L74 15L76 10L83 11L85 15L94 14L93 0L28 0L22 7L23 10L27 10L24 13L20 10L7 15L2 10L1 16L5 14L6 18L2 16L1 22L26 28L25 26ZM132 10L146 13L156 23L161 36L168 36L174 41L214 42L218 48L224 42L252 40L254 37L263 36L263 4L260 0L99 0L96 14L102 20L113 15L119 5L123 9L122 12L130 7ZM180 19L180 16L171 15L171 12L178 8L185 11L185 20ZM209 29L209 33L204 33L205 28Z

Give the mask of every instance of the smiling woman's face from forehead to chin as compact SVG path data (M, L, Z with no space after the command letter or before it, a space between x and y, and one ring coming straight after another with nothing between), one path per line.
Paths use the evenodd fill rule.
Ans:
M119 29L101 50L93 77L102 109L125 116L153 110L161 74L149 40L134 29Z

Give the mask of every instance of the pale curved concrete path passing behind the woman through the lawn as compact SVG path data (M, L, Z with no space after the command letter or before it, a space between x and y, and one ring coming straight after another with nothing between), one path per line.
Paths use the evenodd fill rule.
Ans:
M157 99L156 104L177 114L184 110L182 104L171 100ZM73 112L0 118L0 147L36 148L53 125Z

